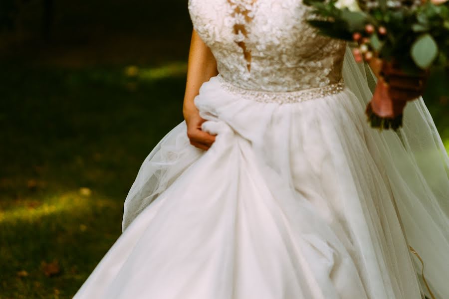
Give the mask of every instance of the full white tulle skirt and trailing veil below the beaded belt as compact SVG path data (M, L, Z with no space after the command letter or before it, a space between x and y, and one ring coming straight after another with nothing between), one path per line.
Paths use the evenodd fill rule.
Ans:
M348 88L291 104L205 83L195 104L216 142L194 148L183 122L149 154L123 235L75 298L418 299L409 245L447 298L444 154L426 172L413 124L369 128L359 72L346 64Z

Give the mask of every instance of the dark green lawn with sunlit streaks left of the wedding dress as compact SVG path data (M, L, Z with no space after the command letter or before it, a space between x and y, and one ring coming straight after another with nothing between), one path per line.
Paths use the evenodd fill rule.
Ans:
M70 298L81 286L121 233L143 159L182 121L184 69L1 73L0 298ZM55 261L47 277L42 263Z

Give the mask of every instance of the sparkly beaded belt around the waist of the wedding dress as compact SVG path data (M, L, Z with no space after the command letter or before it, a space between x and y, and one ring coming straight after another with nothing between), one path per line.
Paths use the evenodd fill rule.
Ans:
M225 81L225 79L223 79L223 77L220 75L218 75L218 79L221 86L229 93L247 100L261 103L299 103L317 98L323 98L329 95L334 95L340 93L345 88L345 84L342 79L338 83L329 84L323 87L315 87L298 91L270 92L248 90L237 87Z

